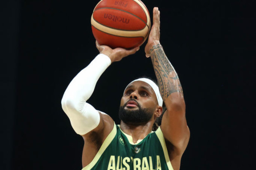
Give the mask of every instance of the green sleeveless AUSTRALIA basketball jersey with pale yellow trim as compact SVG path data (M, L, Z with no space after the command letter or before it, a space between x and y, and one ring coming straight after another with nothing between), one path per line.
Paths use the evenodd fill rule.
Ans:
M82 170L173 170L160 127L136 144L132 141L114 124L92 162Z

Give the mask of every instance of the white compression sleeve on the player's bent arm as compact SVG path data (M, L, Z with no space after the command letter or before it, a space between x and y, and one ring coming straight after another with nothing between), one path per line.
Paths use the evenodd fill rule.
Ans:
M71 126L79 135L84 135L100 123L99 112L86 103L94 91L96 82L111 64L104 54L99 54L73 78L62 98L62 109L69 117Z

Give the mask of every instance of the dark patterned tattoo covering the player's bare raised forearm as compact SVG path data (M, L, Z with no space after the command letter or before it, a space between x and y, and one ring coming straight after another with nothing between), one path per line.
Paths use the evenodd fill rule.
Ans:
M159 91L163 100L166 100L167 97L174 92L180 93L183 97L183 90L179 77L166 57L162 46L160 44L154 45L152 49L150 49L150 54L157 82L159 84Z

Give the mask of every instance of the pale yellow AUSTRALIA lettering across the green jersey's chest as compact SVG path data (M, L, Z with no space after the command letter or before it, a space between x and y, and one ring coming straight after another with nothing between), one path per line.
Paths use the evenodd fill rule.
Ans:
M115 156L111 155L107 170L161 170L160 156L156 155L156 165L153 166L152 156L142 159L117 156L116 160Z

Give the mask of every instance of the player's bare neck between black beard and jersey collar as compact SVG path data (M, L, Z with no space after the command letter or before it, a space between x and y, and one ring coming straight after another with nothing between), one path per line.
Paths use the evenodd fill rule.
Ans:
M124 133L133 137L133 143L136 143L138 140L143 139L152 131L153 123L152 121L147 122L146 124L140 125L130 125L121 121L120 128Z

